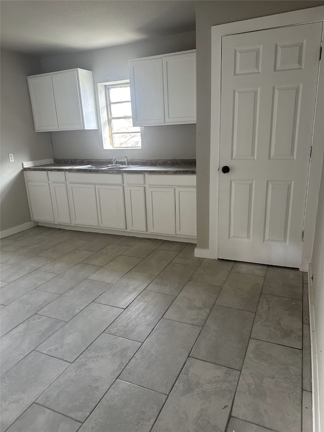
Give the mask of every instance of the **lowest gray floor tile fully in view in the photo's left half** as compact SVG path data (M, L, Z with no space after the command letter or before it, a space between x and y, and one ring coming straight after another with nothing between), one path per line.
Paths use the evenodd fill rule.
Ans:
M101 334L37 402L85 421L139 346L133 340Z

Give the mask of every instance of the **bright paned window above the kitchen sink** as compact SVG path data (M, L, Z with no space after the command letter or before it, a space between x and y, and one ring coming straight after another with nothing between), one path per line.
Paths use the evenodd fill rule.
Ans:
M141 129L133 127L130 85L128 83L105 85L105 97L109 147L140 148ZM107 145L105 147L108 148Z

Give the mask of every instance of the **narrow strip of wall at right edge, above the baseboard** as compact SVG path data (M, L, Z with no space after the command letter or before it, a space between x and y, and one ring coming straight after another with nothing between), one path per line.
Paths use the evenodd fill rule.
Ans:
M324 160L319 190L311 269L318 366L318 411L324 428ZM316 397L316 395L315 395ZM319 430L319 429L318 429Z

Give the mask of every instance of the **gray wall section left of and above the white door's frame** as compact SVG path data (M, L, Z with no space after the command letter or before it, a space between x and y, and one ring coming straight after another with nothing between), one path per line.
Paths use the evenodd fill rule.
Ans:
M197 49L197 246L209 248L211 27L266 15L323 5L316 1L199 1L196 2Z

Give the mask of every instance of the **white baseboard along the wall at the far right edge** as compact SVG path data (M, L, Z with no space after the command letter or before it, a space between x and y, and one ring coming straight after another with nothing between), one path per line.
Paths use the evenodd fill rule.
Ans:
M319 386L318 386L318 364L317 364L317 344L315 332L314 297L312 267L308 264L308 304L309 304L309 325L310 325L310 352L312 363L312 400L313 400L313 432L322 430L320 427L320 406L319 406Z

